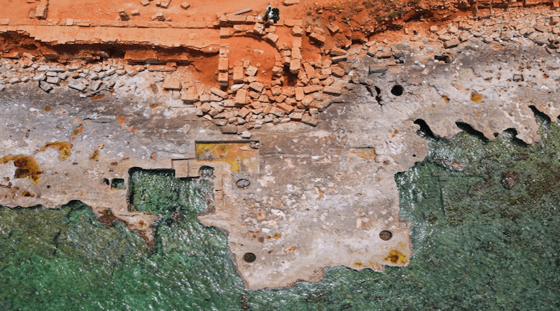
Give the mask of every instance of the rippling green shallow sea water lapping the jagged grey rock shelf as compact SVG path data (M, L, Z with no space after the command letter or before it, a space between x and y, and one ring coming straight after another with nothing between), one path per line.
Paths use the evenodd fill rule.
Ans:
M0 310L560 310L560 127L540 122L531 146L426 137L430 155L395 176L410 265L290 289L244 290L225 234L195 219L209 178L132 173L135 209L162 215L155 252L77 201L0 208Z

